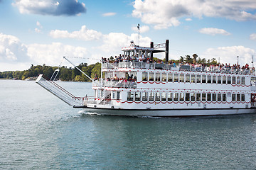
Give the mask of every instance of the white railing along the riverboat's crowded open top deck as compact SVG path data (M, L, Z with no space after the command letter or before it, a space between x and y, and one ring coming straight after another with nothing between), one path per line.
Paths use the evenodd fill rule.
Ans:
M225 67L198 67L192 65L179 65L174 67L173 64L160 64L160 63L146 63L146 62L119 62L119 63L102 63L102 69L119 69L119 68L131 68L131 69L165 69L176 71L188 71L188 72L215 72L225 74L250 74L255 75L254 68L248 69L231 69Z

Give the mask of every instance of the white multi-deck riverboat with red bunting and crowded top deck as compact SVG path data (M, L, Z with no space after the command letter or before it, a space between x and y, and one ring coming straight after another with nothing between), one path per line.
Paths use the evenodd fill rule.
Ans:
M158 52L165 52L165 63L153 62ZM102 58L100 78L83 73L92 80L94 96L73 96L55 83L55 73L50 80L39 75L36 83L87 113L152 117L256 113L254 67L168 61L169 40L157 45L151 42L150 47L131 42L113 62Z

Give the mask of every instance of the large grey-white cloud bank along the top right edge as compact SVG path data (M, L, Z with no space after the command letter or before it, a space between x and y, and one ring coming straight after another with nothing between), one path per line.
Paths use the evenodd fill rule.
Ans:
M154 25L155 29L178 26L179 18L184 16L201 18L221 17L235 21L256 20L255 0L135 0L132 16L142 22Z

